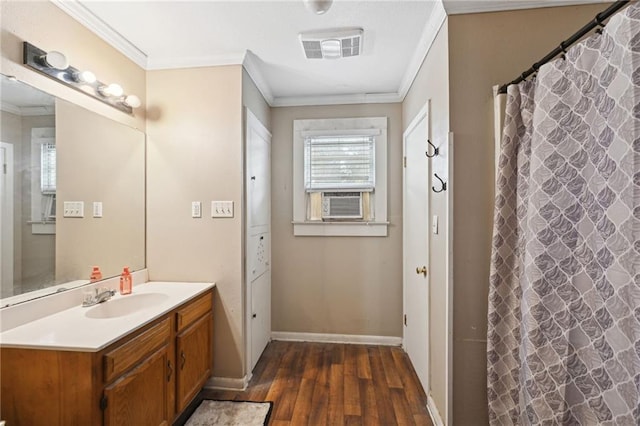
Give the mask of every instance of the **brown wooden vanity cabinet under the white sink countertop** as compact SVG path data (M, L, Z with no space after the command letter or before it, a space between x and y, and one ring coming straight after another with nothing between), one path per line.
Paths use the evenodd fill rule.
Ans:
M212 302L210 290L100 352L0 348L0 417L11 426L171 425L211 375Z

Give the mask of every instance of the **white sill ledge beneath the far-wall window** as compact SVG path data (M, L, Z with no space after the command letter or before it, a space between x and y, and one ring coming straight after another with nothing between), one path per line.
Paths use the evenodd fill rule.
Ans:
M386 237L389 222L291 222L298 237Z

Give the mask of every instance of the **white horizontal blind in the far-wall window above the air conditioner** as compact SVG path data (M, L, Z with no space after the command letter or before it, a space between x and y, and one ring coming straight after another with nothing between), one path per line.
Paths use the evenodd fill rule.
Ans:
M304 184L307 192L373 191L375 137L307 136L304 139Z

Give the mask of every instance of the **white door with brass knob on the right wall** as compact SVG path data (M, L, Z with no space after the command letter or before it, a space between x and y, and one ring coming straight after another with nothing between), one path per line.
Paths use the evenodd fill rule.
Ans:
M404 348L429 393L428 106L404 133Z

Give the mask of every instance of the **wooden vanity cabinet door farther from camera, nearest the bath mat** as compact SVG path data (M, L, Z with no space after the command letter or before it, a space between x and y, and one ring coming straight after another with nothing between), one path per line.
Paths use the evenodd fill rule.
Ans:
M211 375L213 319L207 314L176 339L177 411L181 412Z

